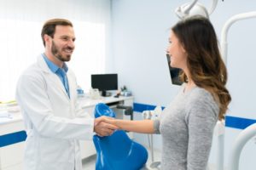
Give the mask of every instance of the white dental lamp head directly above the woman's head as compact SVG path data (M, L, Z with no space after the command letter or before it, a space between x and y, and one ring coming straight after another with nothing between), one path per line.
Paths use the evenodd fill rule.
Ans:
M218 0L212 0L212 7L207 10L201 3L197 3L198 0L194 0L192 3L185 3L176 8L175 13L178 18L181 20L193 16L193 15L201 15L209 18L209 15L212 14L214 9L217 6Z

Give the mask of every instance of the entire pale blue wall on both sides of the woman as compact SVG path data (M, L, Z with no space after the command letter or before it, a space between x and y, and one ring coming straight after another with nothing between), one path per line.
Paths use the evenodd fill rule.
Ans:
M113 71L119 73L120 85L126 85L135 95L135 102L166 106L177 94L172 85L166 63L166 45L169 28L177 22L174 9L185 0L112 0ZM190 1L189 1L190 2ZM201 0L209 7L211 1ZM256 10L255 1L218 1L211 15L213 26L220 38L224 22L232 15ZM254 99L256 92L256 19L238 21L231 26L228 42L228 88L232 95L229 116L256 119ZM220 41L220 39L219 39ZM139 118L139 115L138 117ZM227 127L225 163L230 147L241 130ZM145 137L145 136L144 136ZM138 138L147 143L147 138ZM160 148L160 138L156 138ZM214 139L215 141L215 139ZM211 162L215 161L216 144L213 143ZM240 169L255 169L256 148L253 140L244 148Z

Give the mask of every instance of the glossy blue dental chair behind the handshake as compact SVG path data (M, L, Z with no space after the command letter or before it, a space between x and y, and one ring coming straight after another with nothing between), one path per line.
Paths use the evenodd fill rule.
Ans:
M111 116L115 113L105 104L96 105L95 117ZM148 152L142 144L131 140L123 130L111 136L94 135L96 147L96 170L139 170L148 160Z

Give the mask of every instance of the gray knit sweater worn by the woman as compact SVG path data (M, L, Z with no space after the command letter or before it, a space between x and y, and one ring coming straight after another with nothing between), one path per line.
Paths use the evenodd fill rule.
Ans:
M154 121L155 133L162 135L162 170L206 170L212 133L218 121L218 104L204 88L177 97Z

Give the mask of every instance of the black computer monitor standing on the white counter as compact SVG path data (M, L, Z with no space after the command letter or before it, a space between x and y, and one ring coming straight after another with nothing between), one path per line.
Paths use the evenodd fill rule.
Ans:
M98 88L102 96L106 96L107 90L118 90L117 74L93 74L90 78L91 88Z

